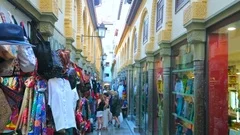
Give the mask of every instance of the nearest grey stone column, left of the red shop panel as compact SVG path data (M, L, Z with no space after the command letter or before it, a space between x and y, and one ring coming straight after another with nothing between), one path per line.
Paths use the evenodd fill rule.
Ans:
M192 24L194 26L194 24ZM205 30L191 30L187 34L188 43L194 46L194 135L205 134L204 106L204 58Z

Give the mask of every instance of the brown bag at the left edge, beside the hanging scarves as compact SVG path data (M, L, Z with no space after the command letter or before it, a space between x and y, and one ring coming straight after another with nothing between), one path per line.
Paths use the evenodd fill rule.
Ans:
M0 89L0 105L1 108L0 109L0 133L2 133L2 131L5 129L10 116L12 114L11 108L8 104L8 101L2 91L2 89Z

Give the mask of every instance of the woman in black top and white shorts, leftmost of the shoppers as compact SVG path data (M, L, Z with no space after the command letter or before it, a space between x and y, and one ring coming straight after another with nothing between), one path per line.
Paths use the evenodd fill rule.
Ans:
M103 95L99 95L99 99L97 102L97 121L98 121L98 128L97 130L101 130L101 128L103 127L103 110L104 110L104 106L105 106L105 101L103 98Z

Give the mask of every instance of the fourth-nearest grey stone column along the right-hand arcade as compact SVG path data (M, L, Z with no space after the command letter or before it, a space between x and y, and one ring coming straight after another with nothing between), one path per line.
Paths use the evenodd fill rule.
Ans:
M135 61L134 67L136 68L137 75L136 75L136 86L137 86L137 93L136 93L136 123L135 123L135 128L134 131L139 132L140 131L140 85L141 85L141 65L140 61Z

